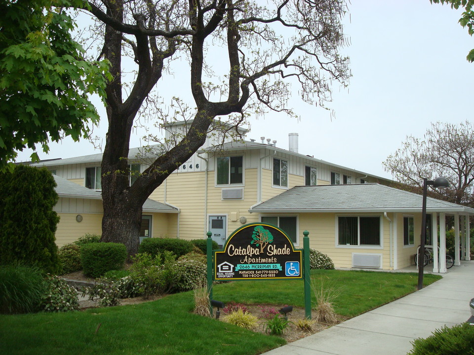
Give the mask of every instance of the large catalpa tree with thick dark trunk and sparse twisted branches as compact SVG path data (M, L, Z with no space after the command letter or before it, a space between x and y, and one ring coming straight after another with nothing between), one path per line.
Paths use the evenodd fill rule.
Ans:
M338 54L345 40L340 0L102 0L84 10L103 25L101 56L114 78L106 89L102 240L124 243L130 254L138 249L143 203L204 143L216 117L265 108L291 114L285 106L291 83L300 85L304 101L322 105L330 99L330 81L345 85L348 79L347 58ZM127 51L137 69L125 94ZM228 68L219 73L226 78L221 86L206 61L216 55ZM177 56L190 64L193 123L128 186L125 158L134 120Z

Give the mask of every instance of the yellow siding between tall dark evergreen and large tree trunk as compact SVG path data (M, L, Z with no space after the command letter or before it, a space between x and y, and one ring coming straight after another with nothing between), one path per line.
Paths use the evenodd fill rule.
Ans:
M81 214L82 221L76 221L76 213L58 213L60 220L56 229L56 244L62 247L72 243L86 233L102 234L102 213Z

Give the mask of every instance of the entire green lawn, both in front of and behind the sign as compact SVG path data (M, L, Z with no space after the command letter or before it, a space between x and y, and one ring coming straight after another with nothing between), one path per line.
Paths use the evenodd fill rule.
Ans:
M314 270L316 284L338 288L336 311L353 317L416 289L416 274ZM425 275L431 284L439 277ZM303 282L245 281L214 286L214 299L303 306ZM0 316L0 354L261 354L284 344L192 314L192 292L154 302L61 314Z

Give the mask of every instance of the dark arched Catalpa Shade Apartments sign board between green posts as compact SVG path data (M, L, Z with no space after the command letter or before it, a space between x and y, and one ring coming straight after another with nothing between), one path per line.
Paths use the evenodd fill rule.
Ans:
M288 236L267 223L234 231L222 251L214 252L214 280L302 279L302 252Z

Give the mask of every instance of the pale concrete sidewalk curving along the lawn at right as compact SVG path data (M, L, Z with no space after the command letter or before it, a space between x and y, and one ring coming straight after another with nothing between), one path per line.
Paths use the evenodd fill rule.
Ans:
M264 355L406 355L435 329L467 321L474 261L462 261L420 291Z

